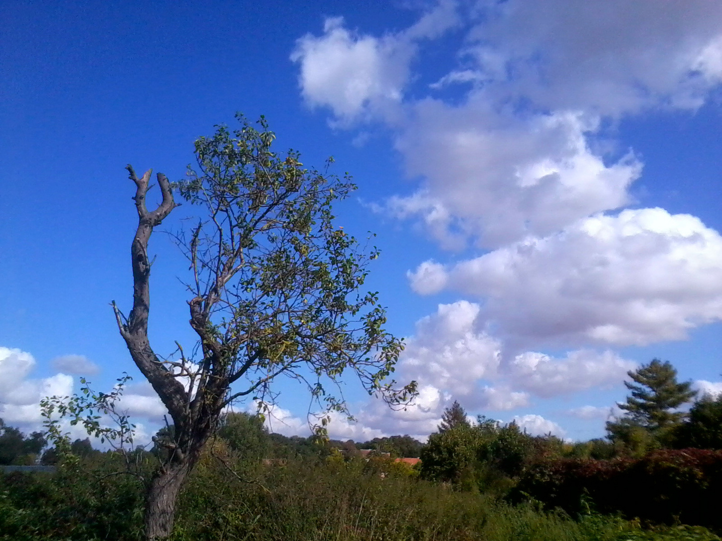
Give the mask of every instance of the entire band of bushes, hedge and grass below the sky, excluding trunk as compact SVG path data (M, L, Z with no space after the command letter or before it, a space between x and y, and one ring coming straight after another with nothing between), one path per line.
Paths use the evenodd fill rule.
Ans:
M708 423L720 404L700 399L677 434L716 441ZM287 437L269 434L258 415L226 415L181 493L173 539L720 540L722 451L635 457L619 442L570 444L514 423L461 422L458 410L449 408L445 420L459 422L440 426L424 446L410 436ZM142 539L143 478L172 434L172 425L159 431L150 452L100 452L76 440L42 455L58 464L53 475L1 475L0 539ZM682 444L680 435L674 441ZM359 449L378 453L362 457ZM395 461L414 449L420 465ZM33 456L37 462L39 449Z

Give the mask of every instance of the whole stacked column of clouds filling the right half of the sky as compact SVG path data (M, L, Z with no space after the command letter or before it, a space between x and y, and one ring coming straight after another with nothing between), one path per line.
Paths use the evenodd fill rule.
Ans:
M391 128L417 184L377 208L445 249L491 250L407 273L418 294L474 302L417 322L397 368L425 394L405 418L365 407L364 425L384 430L432 431L452 397L513 410L621 383L634 364L606 348L684 339L722 319L722 237L694 216L620 211L643 164L633 149L612 154L608 129L708 100L722 82L722 4L482 0L460 12L441 2L385 35L328 19L292 56L305 101L337 126ZM449 29L463 45L424 81L424 40ZM538 415L518 422L563 434Z

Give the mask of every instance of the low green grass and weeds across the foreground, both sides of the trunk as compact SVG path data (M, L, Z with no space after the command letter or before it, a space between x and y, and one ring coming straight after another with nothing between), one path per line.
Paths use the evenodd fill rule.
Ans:
M136 541L142 484L110 475L123 458L103 454L58 475L0 474L0 540ZM246 463L230 459L241 478ZM152 467L144 462L144 467ZM640 527L584 511L572 519L534 503L512 506L480 493L450 491L389 470L375 459L289 461L258 483L201 459L183 491L176 541L719 541L700 527ZM380 473L386 473L383 477Z

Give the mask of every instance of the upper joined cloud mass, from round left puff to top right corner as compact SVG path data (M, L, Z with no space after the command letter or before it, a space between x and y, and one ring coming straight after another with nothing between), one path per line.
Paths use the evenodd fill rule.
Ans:
M376 118L393 128L422 184L387 211L420 219L449 249L469 238L499 247L630 202L642 165L599 150L604 120L702 105L722 82L721 22L722 7L703 1L482 1L463 19L441 2L383 37L328 19L292 58L311 105L349 126ZM465 38L458 65L426 96L405 95L424 76L409 67L419 38L452 28ZM439 97L450 84L466 85L461 99Z

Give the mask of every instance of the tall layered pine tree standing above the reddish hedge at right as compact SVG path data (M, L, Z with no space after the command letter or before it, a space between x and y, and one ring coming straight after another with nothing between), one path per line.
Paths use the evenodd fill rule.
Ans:
M692 382L677 382L677 370L669 361L653 359L627 375L632 382L625 386L632 393L627 403L617 405L627 412L628 421L653 432L681 423L686 414L676 409L697 395Z

